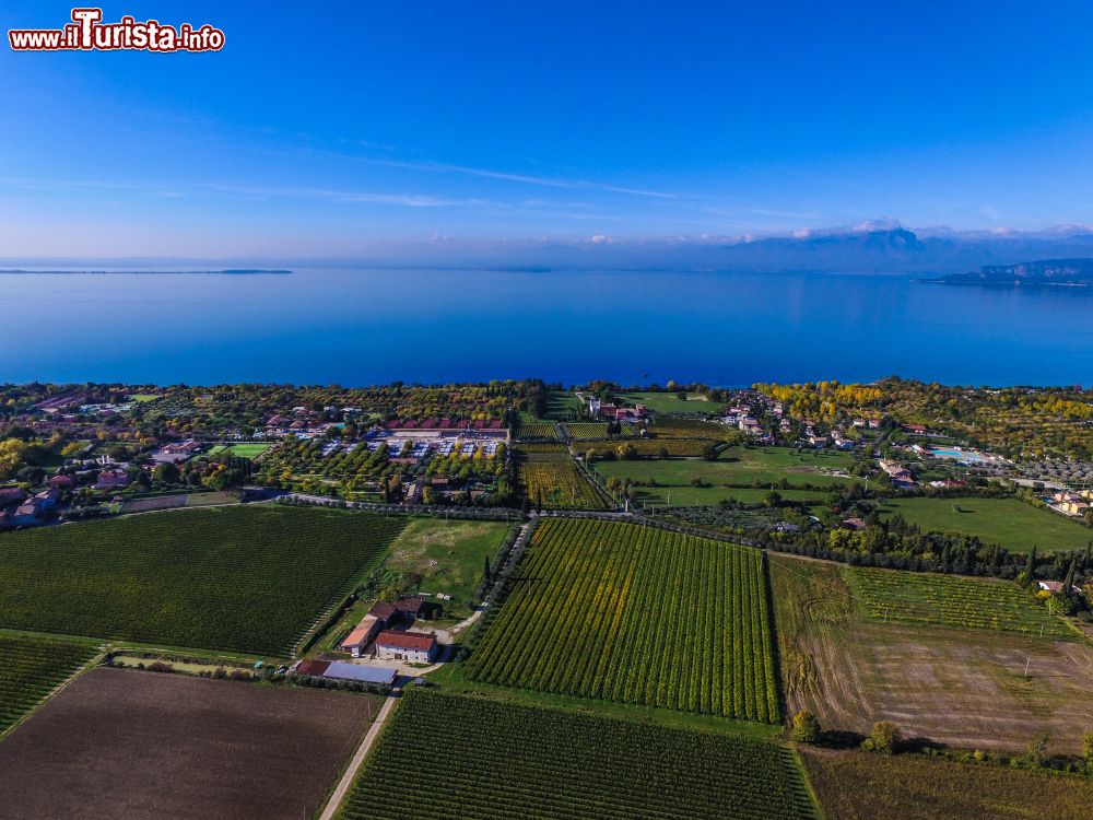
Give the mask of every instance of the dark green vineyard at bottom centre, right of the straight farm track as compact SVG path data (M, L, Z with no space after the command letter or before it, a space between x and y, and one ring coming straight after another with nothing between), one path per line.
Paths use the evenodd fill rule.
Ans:
M814 816L792 752L769 741L428 690L402 699L341 811L344 820Z

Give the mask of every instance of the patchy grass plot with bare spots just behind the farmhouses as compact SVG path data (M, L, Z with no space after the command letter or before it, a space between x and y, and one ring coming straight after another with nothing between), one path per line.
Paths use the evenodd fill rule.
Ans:
M450 595L445 620L470 616L467 600L482 582L485 559L492 561L512 525L415 518L391 543L381 583L395 593Z

